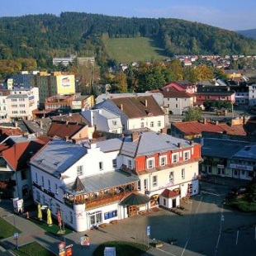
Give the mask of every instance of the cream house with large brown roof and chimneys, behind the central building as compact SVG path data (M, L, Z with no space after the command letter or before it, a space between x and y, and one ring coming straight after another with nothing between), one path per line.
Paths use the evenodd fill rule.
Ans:
M165 127L164 111L151 95L111 98L94 108L105 108L120 116L124 133L145 129L160 131Z

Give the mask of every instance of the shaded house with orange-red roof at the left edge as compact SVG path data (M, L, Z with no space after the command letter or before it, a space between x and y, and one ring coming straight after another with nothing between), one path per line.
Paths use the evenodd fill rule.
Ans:
M28 162L45 143L35 135L0 136L0 191L4 198L32 196Z

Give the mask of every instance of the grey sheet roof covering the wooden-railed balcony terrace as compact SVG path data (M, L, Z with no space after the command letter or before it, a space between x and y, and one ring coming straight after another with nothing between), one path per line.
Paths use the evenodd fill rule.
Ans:
M111 173L102 173L90 177L86 177L81 179L81 183L83 183L83 193L85 192L97 192L99 190L108 189L111 187L118 187L121 185L126 185L128 183L134 183L139 181L140 179L130 173L124 173L122 171L114 171ZM73 192L72 190L73 183L65 184L62 188L64 190L68 190L74 193L81 192Z

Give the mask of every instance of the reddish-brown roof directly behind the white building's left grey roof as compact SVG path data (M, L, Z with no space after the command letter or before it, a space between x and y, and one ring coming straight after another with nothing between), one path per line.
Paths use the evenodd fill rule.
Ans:
M58 136L59 138L71 138L73 135L78 133L85 125L78 123L66 123L63 121L53 121L47 132L50 137Z

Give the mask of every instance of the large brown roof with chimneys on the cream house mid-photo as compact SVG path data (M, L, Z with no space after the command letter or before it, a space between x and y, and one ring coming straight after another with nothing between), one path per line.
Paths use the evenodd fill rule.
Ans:
M128 118L164 115L164 111L153 96L116 97L112 98L111 101L116 107L121 108L122 106L122 111Z

